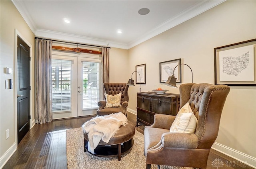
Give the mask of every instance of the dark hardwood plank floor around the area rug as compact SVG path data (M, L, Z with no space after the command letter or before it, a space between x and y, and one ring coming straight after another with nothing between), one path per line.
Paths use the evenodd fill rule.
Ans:
M136 115L128 112L127 117L136 125ZM87 116L36 124L19 143L3 169L66 169L66 130L81 127L91 118ZM138 126L136 130L143 134L144 126ZM215 150L210 152L207 169L218 169L212 166L214 159L223 161L224 165L219 169L252 169Z

